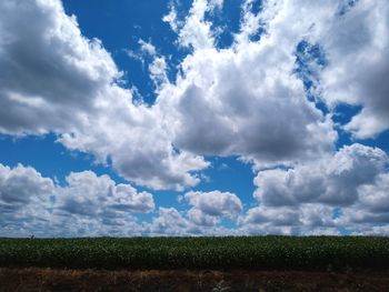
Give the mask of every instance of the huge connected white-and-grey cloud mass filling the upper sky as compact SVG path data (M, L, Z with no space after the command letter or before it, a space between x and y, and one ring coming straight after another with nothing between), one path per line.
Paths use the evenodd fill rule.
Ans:
M140 42L153 58L149 71L158 89L156 104L147 107L133 104L131 91L117 84L121 73L110 54L100 41L81 36L60 1L2 1L0 131L54 131L69 149L111 161L124 179L153 189L196 185L196 172L209 165L202 155L239 155L257 167L311 160L333 150L337 132L295 73L302 40L320 43L329 59L320 74L323 99L363 105L346 129L359 137L386 129L387 89L376 77L388 68L387 38L380 38L388 34L387 4L272 0L255 13L252 1L245 1L232 46L218 49L206 19L222 4L196 0L183 21L173 7L164 18L174 24L179 43L192 49L173 83L166 59ZM376 14L372 27L368 19ZM346 41L341 33L355 36L356 21L362 41ZM255 34L259 41L250 39ZM377 58L367 57L371 51ZM359 60L360 70L349 68L351 59ZM369 70L376 71L365 79ZM377 92L367 94L371 88Z

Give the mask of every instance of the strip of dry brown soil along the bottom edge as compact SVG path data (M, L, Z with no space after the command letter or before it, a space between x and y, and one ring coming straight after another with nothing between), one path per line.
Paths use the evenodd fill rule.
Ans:
M0 268L0 291L389 291L389 272L101 271Z

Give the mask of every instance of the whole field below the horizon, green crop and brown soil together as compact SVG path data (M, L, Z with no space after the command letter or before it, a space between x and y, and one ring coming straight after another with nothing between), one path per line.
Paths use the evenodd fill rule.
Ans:
M0 291L386 291L388 271L389 238L0 239Z

